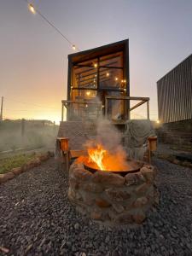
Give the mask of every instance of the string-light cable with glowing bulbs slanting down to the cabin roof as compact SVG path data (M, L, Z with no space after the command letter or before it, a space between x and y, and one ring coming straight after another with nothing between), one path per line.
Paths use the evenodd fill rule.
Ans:
M78 50L79 50L79 48L78 48L75 44L73 44L73 43L67 38L67 36L65 36L65 35L61 32L61 30L59 30L52 22L50 22L50 21L47 19L47 17L45 17L45 15L43 15L38 9L34 8L34 6L32 5L32 3L29 3L27 0L24 0L24 1L28 4L28 7L29 7L29 9L32 11L33 14L38 13L38 15L40 15L41 18L42 18L45 22L47 22L47 23L49 24L49 26L52 26L52 27L55 29L55 31L58 32L58 33L61 35L62 38L64 38L65 40L67 40L67 42L68 42L69 44L71 44L71 46L72 46L72 48L73 48L74 50L75 50L75 49L78 49Z

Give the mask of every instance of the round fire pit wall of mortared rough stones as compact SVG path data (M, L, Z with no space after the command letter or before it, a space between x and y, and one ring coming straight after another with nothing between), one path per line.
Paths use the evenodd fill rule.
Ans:
M135 173L84 169L76 160L69 171L68 197L89 218L113 224L141 224L148 210L159 203L154 166L143 165Z

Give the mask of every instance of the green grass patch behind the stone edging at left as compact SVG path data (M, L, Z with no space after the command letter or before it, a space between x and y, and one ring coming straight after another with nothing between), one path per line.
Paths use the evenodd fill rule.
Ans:
M37 157L37 154L17 154L0 160L0 173L10 172L15 167L20 167L26 164L28 161Z

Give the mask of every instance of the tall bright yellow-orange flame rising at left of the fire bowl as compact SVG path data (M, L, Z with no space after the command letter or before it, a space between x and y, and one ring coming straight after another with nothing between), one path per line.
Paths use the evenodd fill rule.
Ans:
M105 171L106 166L103 165L102 160L106 150L102 148L101 144L97 144L96 148L88 148L88 154L90 156L90 160L96 163L100 170Z

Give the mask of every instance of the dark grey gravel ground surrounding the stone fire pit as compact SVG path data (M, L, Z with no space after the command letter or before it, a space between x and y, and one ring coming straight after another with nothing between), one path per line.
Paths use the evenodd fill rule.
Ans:
M154 164L160 206L134 228L82 218L54 159L22 173L0 186L0 248L8 255L192 255L192 170Z

